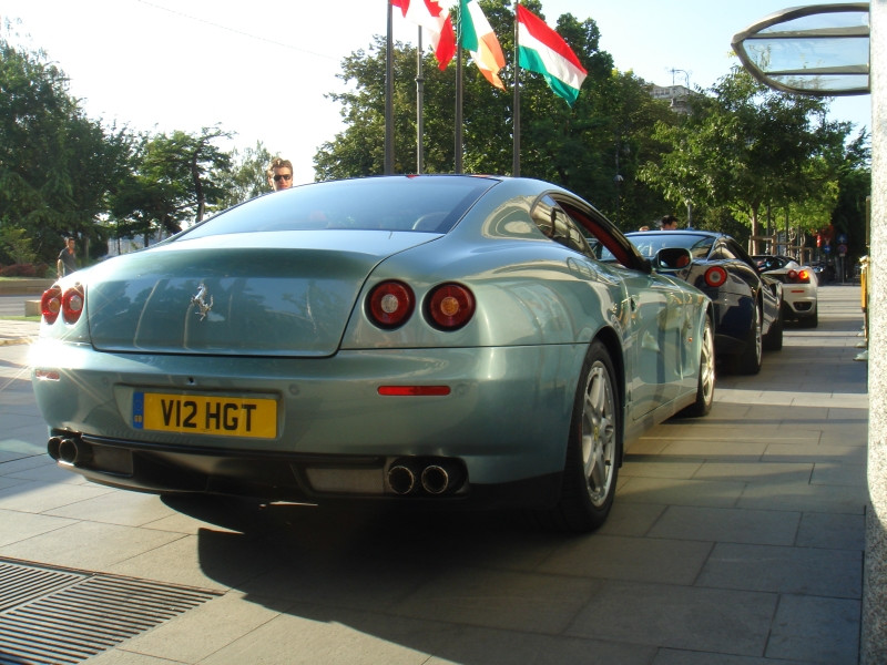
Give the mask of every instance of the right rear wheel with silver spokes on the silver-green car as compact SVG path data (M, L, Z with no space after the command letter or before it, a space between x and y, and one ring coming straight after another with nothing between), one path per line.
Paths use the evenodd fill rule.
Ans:
M561 497L543 516L562 531L593 531L613 505L622 448L616 386L610 354L595 340L582 365L573 401Z

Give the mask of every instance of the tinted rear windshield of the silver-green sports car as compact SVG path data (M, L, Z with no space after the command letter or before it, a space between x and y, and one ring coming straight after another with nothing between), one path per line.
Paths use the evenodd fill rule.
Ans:
M177 238L322 228L447 233L497 183L470 176L397 176L299 185L225 211Z

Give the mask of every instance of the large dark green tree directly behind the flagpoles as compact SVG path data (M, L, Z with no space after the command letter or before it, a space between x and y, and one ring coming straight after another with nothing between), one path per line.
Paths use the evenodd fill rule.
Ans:
M506 0L481 3L507 54L500 76L502 92L480 74L463 53L463 171L511 174L513 132L513 6ZM541 3L527 8L544 18ZM544 79L520 71L521 175L563 185L585 196L611 217L636 219L661 214L659 192L635 177L638 165L655 158L655 122L670 111L653 100L648 85L631 73L613 70L612 57L600 49L597 23L563 14L557 30L573 48L589 75L570 108ZM385 149L386 44L375 38L368 51L343 60L339 78L348 84L329 96L341 106L346 129L315 155L318 180L380 174ZM394 45L395 171L416 171L416 50ZM456 65L437 68L430 53L422 59L425 171L450 173L455 167ZM616 175L622 180L618 181Z

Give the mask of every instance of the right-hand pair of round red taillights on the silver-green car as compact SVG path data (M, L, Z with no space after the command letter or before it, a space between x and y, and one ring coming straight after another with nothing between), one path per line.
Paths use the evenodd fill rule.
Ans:
M426 298L426 318L439 330L457 330L475 314L475 296L458 284L441 284ZM402 282L376 285L367 298L367 316L380 328L392 329L409 320L416 308L412 289Z

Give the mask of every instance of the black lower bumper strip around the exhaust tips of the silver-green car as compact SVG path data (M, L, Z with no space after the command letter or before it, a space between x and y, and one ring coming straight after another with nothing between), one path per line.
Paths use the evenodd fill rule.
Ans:
M561 472L473 483L462 460L442 456L249 453L164 447L54 430L50 456L90 481L157 494L207 493L265 501L437 503L447 507L546 508ZM411 475L396 475L406 469ZM430 475L429 475L430 473ZM428 478L427 478L428 477ZM409 478L409 482L404 482Z

